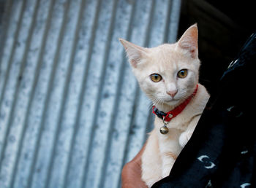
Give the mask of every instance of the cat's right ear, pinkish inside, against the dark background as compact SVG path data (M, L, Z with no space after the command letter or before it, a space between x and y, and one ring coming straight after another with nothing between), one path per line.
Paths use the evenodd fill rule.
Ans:
M198 57L197 47L198 31L197 24L190 26L178 40L176 48L184 50L191 58Z

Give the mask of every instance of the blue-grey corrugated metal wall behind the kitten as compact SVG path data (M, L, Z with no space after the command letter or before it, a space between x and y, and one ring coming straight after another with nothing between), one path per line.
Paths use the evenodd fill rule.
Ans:
M174 42L180 0L10 0L0 47L0 187L120 187L151 129L118 37Z

